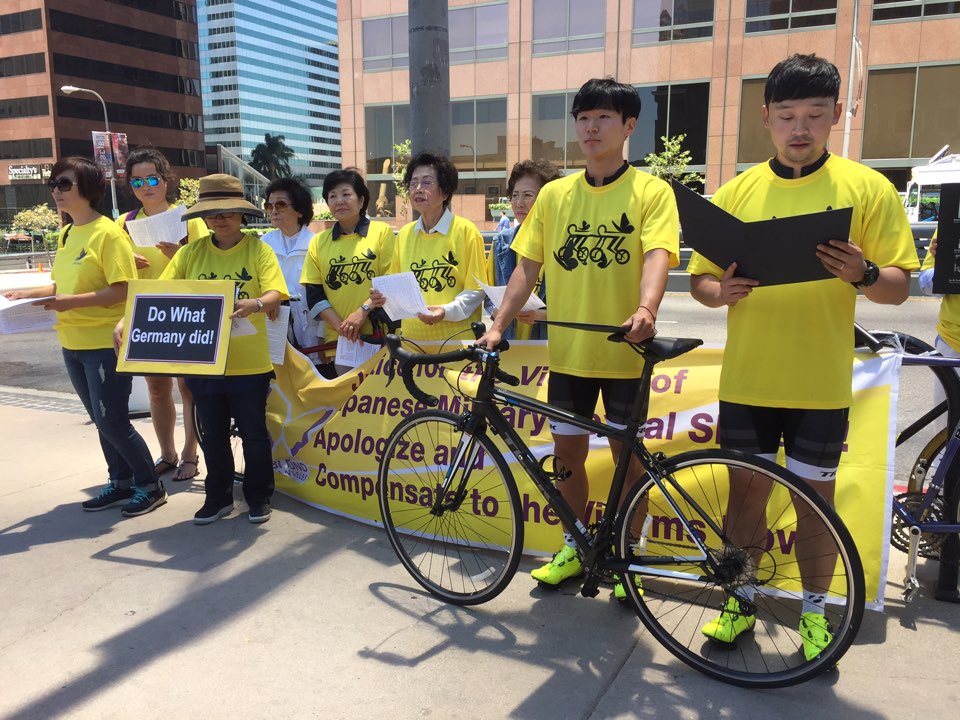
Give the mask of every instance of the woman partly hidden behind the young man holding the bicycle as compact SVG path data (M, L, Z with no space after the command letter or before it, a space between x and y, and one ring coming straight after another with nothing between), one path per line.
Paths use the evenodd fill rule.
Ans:
M514 227L497 233L490 244L490 255L487 257L487 281L492 285L506 285L517 267L517 254L510 248L514 236L520 229L533 203L540 194L540 188L551 180L563 177L563 173L556 165L548 160L523 160L513 166L507 180L507 194L510 196L510 205L517 218ZM537 283L536 293L541 300L547 298L547 288L543 284L543 275ZM496 316L496 310L491 317ZM546 310L530 310L517 315L517 321L510 323L504 330L503 337L508 340L546 340L546 325L533 325L537 320L546 320Z

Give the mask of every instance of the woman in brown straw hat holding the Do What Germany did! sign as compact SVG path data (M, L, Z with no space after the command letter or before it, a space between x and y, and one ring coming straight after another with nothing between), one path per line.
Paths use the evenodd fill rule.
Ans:
M245 215L263 217L263 212L244 199L239 180L223 174L201 178L199 199L184 218L203 218L212 232L182 247L160 276L161 280L233 280L237 302L230 317L248 317L257 329L254 335L230 337L223 377L187 378L204 430L200 447L207 467L206 499L193 516L197 525L215 522L233 510L231 418L243 443L247 517L252 523L270 519L273 458L266 408L273 364L266 315L276 314L288 292L273 250L255 234L243 232Z

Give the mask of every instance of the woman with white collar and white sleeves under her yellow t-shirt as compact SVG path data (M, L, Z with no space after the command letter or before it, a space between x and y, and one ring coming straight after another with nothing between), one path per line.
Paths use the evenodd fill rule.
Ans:
M450 210L457 189L457 168L442 155L419 153L410 160L403 182L420 219L406 225L397 238L391 273L412 271L427 311L402 322L412 340L469 337L470 323L480 319L486 276L483 237L476 226ZM370 304L381 307L387 298L370 292Z

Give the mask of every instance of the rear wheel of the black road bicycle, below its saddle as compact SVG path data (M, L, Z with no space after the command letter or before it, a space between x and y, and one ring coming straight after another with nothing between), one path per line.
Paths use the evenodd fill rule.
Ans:
M632 563L624 586L650 633L688 665L743 687L794 685L833 667L856 636L865 597L860 556L836 512L796 475L749 455L684 453L664 470L669 500L648 473L617 528ZM805 593L824 598L832 637L810 661ZM735 637L708 626L731 602L743 616Z

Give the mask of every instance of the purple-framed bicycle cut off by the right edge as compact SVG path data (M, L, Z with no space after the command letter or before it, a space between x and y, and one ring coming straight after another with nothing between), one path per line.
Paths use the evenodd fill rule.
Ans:
M907 554L906 576L901 598L912 602L920 589L917 580L919 557L941 563L938 600L960 602L957 591L957 558L960 556L960 378L955 368L960 358L947 358L922 340L905 333L857 327L860 344L874 352L892 349L905 366L928 367L944 388L946 400L924 413L897 434L896 446L930 426L948 408L948 426L939 430L920 450L908 476L905 492L892 500L890 544ZM953 428L950 430L950 428ZM948 544L949 543L949 544Z

